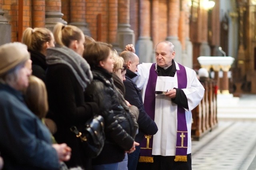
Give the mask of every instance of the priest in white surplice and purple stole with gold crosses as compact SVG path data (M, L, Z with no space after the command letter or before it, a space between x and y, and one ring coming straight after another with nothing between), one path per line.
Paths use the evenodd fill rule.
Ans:
M140 144L140 160L152 158L152 163L143 164L151 170L191 170L191 111L202 100L204 87L194 70L174 61L171 42L158 43L155 57L156 63L138 65L134 79L142 90L146 113L158 127L155 135L145 136Z

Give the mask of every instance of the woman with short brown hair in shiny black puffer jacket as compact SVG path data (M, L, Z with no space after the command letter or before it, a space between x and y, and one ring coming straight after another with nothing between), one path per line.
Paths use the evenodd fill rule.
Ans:
M86 99L98 103L105 121L106 142L100 155L92 161L94 170L118 170L118 162L123 161L125 152L133 152L138 145L130 136L133 123L122 117L125 124L121 126L118 119L118 115L126 111L119 103L113 84L112 56L111 45L101 42L89 43L83 54L93 73L93 81L86 88Z

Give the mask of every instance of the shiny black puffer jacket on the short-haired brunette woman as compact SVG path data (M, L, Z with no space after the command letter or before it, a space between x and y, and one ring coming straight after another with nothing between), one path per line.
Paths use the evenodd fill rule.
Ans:
M120 162L124 159L125 151L130 150L134 143L128 134L130 127L123 128L116 119L116 114L124 111L124 108L118 101L112 74L99 67L92 69L92 74L93 81L86 88L85 99L98 103L104 117L106 134L104 148L92 163L97 165Z

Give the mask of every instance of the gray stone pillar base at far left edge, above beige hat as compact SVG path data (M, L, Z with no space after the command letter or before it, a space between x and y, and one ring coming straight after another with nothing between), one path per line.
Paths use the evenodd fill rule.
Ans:
M0 45L11 42L11 25L8 24L8 20L4 17L2 5L3 0L0 0L0 32L4 33L1 35Z

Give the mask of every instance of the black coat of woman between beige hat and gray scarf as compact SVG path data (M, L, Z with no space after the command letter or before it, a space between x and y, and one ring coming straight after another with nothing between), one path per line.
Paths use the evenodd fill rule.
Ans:
M45 82L45 74L48 65L46 64L45 55L39 51L28 50L32 60L32 75L42 79Z

